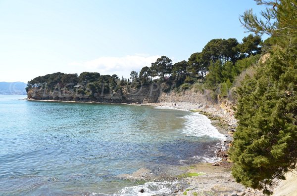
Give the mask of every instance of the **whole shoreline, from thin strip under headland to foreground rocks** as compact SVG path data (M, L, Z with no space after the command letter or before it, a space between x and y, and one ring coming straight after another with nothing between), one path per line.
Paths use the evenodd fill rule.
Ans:
M211 124L223 135L226 136L226 140L221 142L222 147L225 149L229 148L229 143L232 141L232 134L230 130L235 127L234 117L230 114L224 114L224 111L217 110L212 106L206 106L203 104L195 104L189 102L178 102L178 103L170 103L170 102L159 102L159 103L145 103L145 104L127 104L127 103L100 103L100 102L81 102L81 101L60 101L60 100L34 100L27 99L28 101L45 101L45 102L62 102L62 103L91 103L91 104L119 104L119 105L137 105L137 106L151 106L151 107L167 107L168 109L180 109L186 110L189 112L198 112L201 115L205 115L207 118L211 120ZM175 105L176 104L176 105ZM175 195L175 196L183 196L185 192L187 192L188 196L195 196L196 194L212 194L215 196L220 196L219 194L224 194L224 196L229 196L233 192L240 193L246 191L243 185L235 182L235 179L231 175L230 164L228 164L226 153L224 150L216 153L215 157L221 157L222 160L215 163L209 162L199 162L190 165L178 165L174 166L174 170L183 170L183 174L178 176L170 176L171 179L176 178L178 180L178 186L171 187L171 191L163 195ZM142 171L144 171L142 173ZM140 169L139 171L135 171L134 173L138 173L139 176L133 174L123 174L123 178L127 180L134 180L140 178L143 179L144 176L147 176L150 171L148 168ZM167 172L165 172L167 173ZM200 174L203 175L191 176L189 174ZM189 176L188 176L189 175ZM157 180L158 182L162 182L166 180L169 176L165 177L162 180L162 177L158 178L154 176L153 178L148 178L145 180L150 183ZM205 183L207 181L207 186ZM140 190L141 190L140 186ZM160 196L161 196L160 195Z

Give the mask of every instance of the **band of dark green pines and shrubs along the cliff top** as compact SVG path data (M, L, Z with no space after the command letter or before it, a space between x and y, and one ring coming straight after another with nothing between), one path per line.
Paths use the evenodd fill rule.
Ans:
M190 55L188 61L175 64L166 56L157 58L150 66L138 73L132 71L130 78L117 75L100 75L83 72L77 74L53 73L28 81L27 92L32 87L43 89L71 88L80 94L94 98L95 93L108 93L130 85L138 88L150 83L163 83L163 90L183 91L198 86L199 91L209 89L216 95L227 96L235 78L252 64L261 53L259 44L265 45L259 36L249 35L239 43L236 39L212 39L201 52ZM75 87L75 88L74 88Z

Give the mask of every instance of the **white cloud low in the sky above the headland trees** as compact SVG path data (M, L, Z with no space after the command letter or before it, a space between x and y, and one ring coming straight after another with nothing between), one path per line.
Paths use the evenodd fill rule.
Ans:
M160 56L147 54L127 55L124 57L99 57L86 62L72 62L69 65L81 72L99 72L101 75L116 74L128 78L130 72L139 72L143 67L150 66Z

